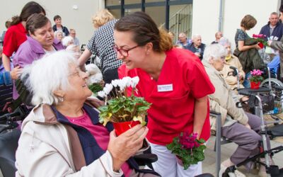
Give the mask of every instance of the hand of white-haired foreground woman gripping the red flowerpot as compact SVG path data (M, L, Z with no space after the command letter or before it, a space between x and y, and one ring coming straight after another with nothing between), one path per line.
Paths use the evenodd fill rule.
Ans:
M148 131L147 127L136 125L119 137L116 137L114 130L110 132L108 151L113 158L113 170L119 170L120 166L141 148Z

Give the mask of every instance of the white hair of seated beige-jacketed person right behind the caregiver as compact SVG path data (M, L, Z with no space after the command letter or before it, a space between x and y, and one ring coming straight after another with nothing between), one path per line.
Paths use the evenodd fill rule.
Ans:
M219 59L222 56L226 56L227 51L225 47L219 44L211 44L205 47L203 59L209 62L209 59Z

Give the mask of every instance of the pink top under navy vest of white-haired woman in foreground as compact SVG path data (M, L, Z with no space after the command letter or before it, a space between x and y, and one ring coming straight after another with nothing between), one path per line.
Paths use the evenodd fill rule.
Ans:
M84 127L86 130L91 132L91 135L93 135L94 139L96 139L99 147L105 151L107 150L110 139L108 130L101 124L93 125L93 122L91 122L91 118L89 118L86 111L83 111L83 115L79 116L78 118L65 117L75 125ZM121 169L126 177L130 176L132 173L132 169L129 168L127 162L122 164Z

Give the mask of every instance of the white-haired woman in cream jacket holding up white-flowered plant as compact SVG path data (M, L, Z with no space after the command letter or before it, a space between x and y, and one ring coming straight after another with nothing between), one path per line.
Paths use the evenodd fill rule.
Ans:
M36 106L23 121L16 176L157 175L138 169L131 157L147 127L137 125L116 137L111 123L101 125L98 110L86 103L88 76L72 53L45 56L25 68L25 76Z

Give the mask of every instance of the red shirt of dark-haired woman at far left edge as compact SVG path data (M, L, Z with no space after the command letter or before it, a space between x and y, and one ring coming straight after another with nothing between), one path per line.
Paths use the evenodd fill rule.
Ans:
M3 53L7 57L11 57L25 40L27 40L27 36L23 24L12 25L5 34Z

